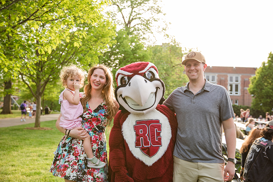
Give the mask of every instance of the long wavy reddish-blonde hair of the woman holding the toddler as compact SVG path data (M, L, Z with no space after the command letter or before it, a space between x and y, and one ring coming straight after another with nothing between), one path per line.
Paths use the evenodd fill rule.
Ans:
M104 85L102 89L102 97L105 100L105 103L107 105L107 124L111 122L112 118L116 114L116 105L115 105L115 94L114 94L114 84L113 84L113 74L112 72L103 64L99 64L97 66L93 66L87 75L88 84L84 86L84 93L85 97L81 99L81 104L83 105L83 112L86 111L86 103L90 100L91 96L91 83L90 83L90 77L94 73L94 70L101 69L105 73L106 77L106 84Z

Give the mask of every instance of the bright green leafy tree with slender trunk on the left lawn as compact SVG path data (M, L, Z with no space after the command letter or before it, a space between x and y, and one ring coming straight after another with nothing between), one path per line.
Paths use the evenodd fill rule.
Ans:
M89 65L107 48L113 29L100 14L105 4L103 0L0 2L0 64L19 70L37 108L62 65ZM40 127L40 112L35 127Z

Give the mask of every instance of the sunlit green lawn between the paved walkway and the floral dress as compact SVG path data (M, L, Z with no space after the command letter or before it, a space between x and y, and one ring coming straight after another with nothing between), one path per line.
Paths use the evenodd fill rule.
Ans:
M64 182L49 172L53 152L64 135L56 129L55 123L56 120L41 122L41 127L53 130L24 129L33 127L33 123L0 128L1 182ZM106 137L108 141L109 132Z

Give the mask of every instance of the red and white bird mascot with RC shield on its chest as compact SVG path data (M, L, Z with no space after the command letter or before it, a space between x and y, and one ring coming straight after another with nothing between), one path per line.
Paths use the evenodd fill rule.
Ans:
M165 85L151 62L116 73L120 106L109 136L111 182L170 182L177 120L164 102Z

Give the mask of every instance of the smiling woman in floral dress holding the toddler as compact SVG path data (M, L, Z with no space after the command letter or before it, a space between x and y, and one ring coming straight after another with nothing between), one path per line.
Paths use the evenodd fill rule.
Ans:
M119 108L114 95L113 75L106 66L97 65L89 70L87 80L80 100L83 106L82 127L66 131L59 126L59 119L56 122L57 129L66 135L55 151L50 172L65 182L108 181L105 128ZM87 167L82 141L86 132L90 135L94 156L105 162L105 167Z

